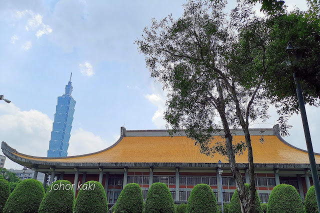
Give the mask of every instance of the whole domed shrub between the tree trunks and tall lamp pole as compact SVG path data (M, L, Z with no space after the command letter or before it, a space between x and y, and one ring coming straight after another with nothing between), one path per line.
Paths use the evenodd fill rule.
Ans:
M303 213L302 200L292 185L280 184L273 187L267 213Z

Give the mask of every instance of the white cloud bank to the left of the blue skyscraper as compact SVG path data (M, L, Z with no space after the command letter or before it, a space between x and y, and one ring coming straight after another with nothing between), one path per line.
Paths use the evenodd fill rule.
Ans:
M52 120L48 115L35 109L22 111L13 103L0 103L1 141L17 151L46 156L51 130ZM16 165L8 158L5 160L6 168L15 168Z

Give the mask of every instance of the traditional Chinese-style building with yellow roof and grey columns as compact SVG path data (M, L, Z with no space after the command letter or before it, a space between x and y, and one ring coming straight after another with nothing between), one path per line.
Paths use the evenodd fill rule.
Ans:
M278 125L249 131L261 202L267 202L273 186L281 183L293 185L304 200L307 189L313 184L307 152L284 141ZM264 142L260 141L261 131ZM244 141L243 131L235 129L233 138L237 142ZM221 140L221 137L216 136L214 140ZM221 190L224 202L229 202L235 189L228 160L219 154L213 157L201 154L184 131L170 137L166 130L126 130L121 127L120 138L110 147L67 157L30 156L19 153L6 142L2 142L1 149L14 162L33 169L33 178L37 172L44 172L69 180L75 186L88 180L99 181L109 203L116 202L123 186L131 182L140 185L144 198L152 182L163 182L175 202L185 202L198 183L210 185L218 202L221 201L218 195ZM217 174L219 160L223 170L222 189ZM320 154L315 153L315 161L319 169ZM236 156L236 162L243 179L248 182L247 152ZM77 187L73 189L76 193Z

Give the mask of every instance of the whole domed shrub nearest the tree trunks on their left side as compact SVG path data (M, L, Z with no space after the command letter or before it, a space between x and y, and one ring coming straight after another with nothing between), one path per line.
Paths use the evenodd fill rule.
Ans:
M193 187L186 207L187 213L217 212L215 196L207 184L197 184Z

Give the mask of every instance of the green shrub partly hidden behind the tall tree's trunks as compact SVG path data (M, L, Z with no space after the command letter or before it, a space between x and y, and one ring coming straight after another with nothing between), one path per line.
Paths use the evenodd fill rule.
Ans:
M244 187L245 187L245 192L247 195L249 195L249 184L248 183L244 183ZM259 199L259 195L258 192L255 191L255 200L254 200L254 212L255 213L261 213L261 205L260 205L260 199ZM232 195L232 198L230 200L230 204L229 204L229 213L238 213L241 212L241 203L240 203L240 199L238 196L238 192L235 189L234 193Z

